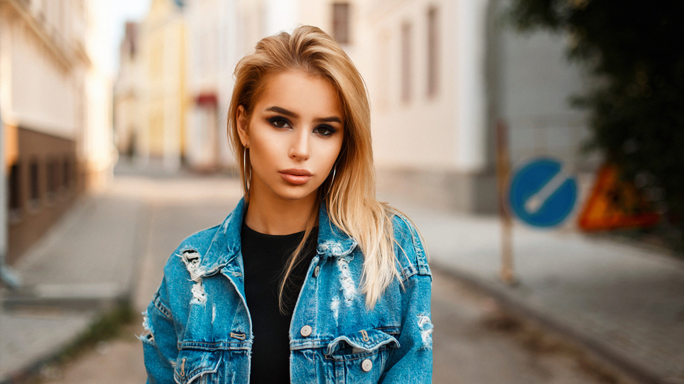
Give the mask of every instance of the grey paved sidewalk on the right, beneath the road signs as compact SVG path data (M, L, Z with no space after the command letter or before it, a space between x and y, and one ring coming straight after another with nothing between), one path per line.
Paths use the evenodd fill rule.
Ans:
M431 262L589 346L644 383L684 383L684 262L573 232L513 230L518 284L499 279L496 217L399 206Z

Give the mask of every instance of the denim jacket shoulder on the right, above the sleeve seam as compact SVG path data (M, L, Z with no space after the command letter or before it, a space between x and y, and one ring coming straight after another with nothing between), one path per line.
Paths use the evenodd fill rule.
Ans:
M410 275L432 275L423 238L415 223L403 212L391 209L394 252L401 266L402 279Z

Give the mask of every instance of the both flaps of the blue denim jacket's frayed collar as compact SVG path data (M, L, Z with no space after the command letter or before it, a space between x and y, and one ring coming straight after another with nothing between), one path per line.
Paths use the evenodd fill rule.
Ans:
M227 264L233 262L240 254L240 230L247 204L244 197L216 231L209 249L200 260L198 271L200 276L209 276L217 273ZM356 247L356 239L346 234L334 225L328 217L326 204L321 202L318 216L318 247L320 255L332 258L347 256Z

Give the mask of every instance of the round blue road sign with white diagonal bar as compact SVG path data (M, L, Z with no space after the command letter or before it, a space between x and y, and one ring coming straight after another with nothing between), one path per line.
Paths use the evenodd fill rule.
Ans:
M577 201L577 181L560 161L534 159L515 174L508 197L513 212L522 221L551 227L572 212Z

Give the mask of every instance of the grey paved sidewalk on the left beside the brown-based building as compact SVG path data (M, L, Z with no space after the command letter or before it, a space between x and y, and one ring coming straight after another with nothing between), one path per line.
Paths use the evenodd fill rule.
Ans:
M1 292L0 383L38 368L102 310L129 299L143 208L140 200L83 196L18 260L23 288Z

